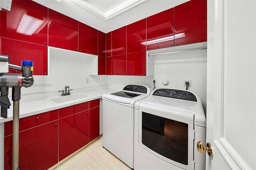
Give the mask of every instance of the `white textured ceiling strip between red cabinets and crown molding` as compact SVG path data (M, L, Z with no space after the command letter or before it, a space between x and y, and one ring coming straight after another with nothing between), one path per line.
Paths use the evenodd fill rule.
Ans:
M55 0L33 1L107 33L189 0L146 0L107 21L96 14L93 14L89 10L86 10L72 0L62 0L62 2L57 2Z

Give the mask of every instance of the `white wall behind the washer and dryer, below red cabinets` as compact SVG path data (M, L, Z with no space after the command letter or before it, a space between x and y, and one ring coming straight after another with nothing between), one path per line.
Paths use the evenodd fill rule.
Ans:
M153 88L156 79L156 88L183 89L183 80L191 80L188 90L195 92L202 100L206 113L206 66L207 50L196 50L179 53L155 55L154 76L118 76L108 75L109 88L122 89L128 84L141 84ZM170 84L164 86L163 79L168 79Z

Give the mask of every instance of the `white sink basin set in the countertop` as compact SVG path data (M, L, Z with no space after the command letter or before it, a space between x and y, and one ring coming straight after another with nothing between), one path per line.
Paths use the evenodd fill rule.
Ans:
M79 99L85 99L90 97L89 95L85 95L82 93L76 93L76 94L72 94L72 95L68 95L68 96L58 96L58 97L50 97L50 98L46 98L48 101L50 101L51 103L53 103L54 105L60 104L60 103L64 103L64 102L69 102L69 101L76 101Z

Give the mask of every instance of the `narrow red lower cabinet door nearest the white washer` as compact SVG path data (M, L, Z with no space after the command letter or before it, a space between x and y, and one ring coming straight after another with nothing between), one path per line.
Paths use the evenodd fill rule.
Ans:
M100 107L89 110L89 142L100 136Z

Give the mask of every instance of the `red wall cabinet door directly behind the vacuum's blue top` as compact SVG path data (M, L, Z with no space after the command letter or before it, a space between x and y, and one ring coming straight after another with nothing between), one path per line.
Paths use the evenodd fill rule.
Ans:
M46 45L0 38L0 54L10 56L10 64L21 65L22 60L34 62L34 75L48 74L48 53Z

